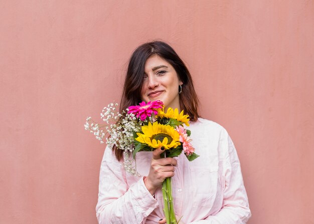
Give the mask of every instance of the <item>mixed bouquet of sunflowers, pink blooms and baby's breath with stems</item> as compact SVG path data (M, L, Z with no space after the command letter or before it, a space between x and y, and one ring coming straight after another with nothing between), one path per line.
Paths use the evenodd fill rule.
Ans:
M168 108L164 111L162 101L141 102L137 106L130 106L126 111L117 112L118 104L109 104L102 110L101 118L106 122L100 125L87 117L85 129L94 133L96 138L103 143L106 134L106 143L109 147L116 146L123 150L124 168L133 175L139 175L132 161L139 151L153 151L161 146L165 153L161 157L176 157L182 152L189 161L199 155L194 152L191 144L191 131L189 115L178 109ZM132 155L130 157L130 155ZM168 224L177 224L172 200L171 177L163 182L164 213Z

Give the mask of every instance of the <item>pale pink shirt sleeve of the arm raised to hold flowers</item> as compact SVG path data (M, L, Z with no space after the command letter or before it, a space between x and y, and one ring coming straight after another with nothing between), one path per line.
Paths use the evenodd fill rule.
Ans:
M123 164L115 159L107 147L100 166L96 205L98 222L144 223L157 206L158 202L147 190L142 177L128 186Z

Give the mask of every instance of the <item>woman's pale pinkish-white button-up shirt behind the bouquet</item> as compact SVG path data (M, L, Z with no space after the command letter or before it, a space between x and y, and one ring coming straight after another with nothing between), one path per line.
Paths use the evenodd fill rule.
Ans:
M181 153L172 177L176 214L186 224L240 224L251 216L240 162L227 131L219 124L199 118L191 122L192 144L200 155L192 162ZM136 154L141 176L126 173L112 150L105 150L99 177L96 206L102 224L150 224L164 217L161 189L153 197L144 185L151 152Z

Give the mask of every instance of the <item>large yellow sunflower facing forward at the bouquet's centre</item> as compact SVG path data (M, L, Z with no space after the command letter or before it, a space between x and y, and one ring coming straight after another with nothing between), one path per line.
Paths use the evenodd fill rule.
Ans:
M136 141L147 144L151 148L164 146L166 149L177 148L180 143L180 135L170 125L163 125L158 122L148 123L142 126L142 132L138 133Z

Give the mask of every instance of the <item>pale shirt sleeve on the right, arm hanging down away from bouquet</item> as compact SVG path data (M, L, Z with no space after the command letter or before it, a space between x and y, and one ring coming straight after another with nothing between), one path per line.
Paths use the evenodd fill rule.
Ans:
M222 208L217 214L210 215L204 220L190 222L190 224L245 224L251 217L239 158L226 131L221 135L219 144L219 150L224 157L225 188Z

